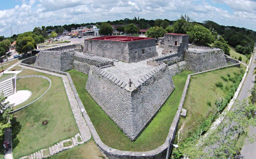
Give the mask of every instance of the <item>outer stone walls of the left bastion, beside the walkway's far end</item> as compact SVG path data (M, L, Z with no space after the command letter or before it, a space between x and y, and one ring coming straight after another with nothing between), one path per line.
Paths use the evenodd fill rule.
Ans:
M73 49L65 51L43 50L38 53L35 66L58 71L67 71L73 69L73 55Z

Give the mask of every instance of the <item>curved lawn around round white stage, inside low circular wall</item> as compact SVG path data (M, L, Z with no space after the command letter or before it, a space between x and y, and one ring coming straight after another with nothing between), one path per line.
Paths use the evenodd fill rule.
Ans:
M20 74L18 75L20 76ZM32 94L30 98L25 101L24 103L21 103L15 107L13 107L14 110L23 107L27 105L28 103L33 102L38 97L40 97L50 86L50 83L48 80L45 80L43 78L38 77L29 77L29 78L21 78L16 80L16 90L29 90Z

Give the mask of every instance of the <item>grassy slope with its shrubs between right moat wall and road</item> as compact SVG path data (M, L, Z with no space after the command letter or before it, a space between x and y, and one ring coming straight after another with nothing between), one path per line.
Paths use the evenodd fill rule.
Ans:
M236 82L224 81L222 85L230 89L216 86L215 81L220 80L221 76L226 78L228 73L231 78L236 79ZM212 122L218 117L216 102L221 101L219 110L222 111L233 97L243 74L243 69L230 67L190 77L189 88L183 105L183 108L187 109L187 117L180 118L179 121L179 126L184 125L184 127L180 132L180 147L173 151L174 157L179 158L182 155L183 144L197 138L200 134L204 134L210 128ZM211 107L209 106L210 103L213 103Z

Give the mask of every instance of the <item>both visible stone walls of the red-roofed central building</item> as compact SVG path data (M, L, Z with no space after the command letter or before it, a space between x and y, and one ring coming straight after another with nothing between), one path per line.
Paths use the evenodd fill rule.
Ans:
M144 54L142 54L144 50ZM127 63L145 60L157 56L155 39L130 42L111 40L84 40L84 53L109 59L118 59Z

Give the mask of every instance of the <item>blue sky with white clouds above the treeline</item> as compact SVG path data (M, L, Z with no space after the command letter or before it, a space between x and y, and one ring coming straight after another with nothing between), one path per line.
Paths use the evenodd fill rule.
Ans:
M256 31L256 0L0 0L0 36L34 27L106 22L134 18L176 20L181 14L197 22Z

